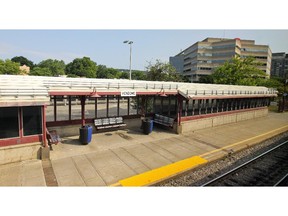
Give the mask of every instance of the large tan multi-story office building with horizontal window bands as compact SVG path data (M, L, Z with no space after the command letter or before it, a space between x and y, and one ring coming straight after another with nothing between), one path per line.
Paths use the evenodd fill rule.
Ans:
M258 68L270 76L271 55L268 45L256 45L254 40L206 38L170 57L170 64L191 82L197 82L201 76L210 75L215 68L235 56L253 56L261 63Z

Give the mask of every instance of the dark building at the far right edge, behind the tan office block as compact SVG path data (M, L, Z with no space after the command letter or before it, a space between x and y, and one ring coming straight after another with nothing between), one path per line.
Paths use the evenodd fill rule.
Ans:
M272 53L271 76L288 78L288 54Z

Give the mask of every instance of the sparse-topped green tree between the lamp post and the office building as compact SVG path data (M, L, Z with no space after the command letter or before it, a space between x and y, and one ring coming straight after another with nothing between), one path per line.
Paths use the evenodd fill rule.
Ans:
M176 69L169 63L156 60L155 64L149 62L147 67L147 79L152 81L174 81L181 82L182 77Z

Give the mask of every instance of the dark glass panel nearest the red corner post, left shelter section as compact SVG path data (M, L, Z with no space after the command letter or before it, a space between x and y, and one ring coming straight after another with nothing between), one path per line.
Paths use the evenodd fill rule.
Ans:
M23 107L24 136L42 134L41 107Z

